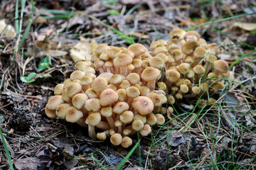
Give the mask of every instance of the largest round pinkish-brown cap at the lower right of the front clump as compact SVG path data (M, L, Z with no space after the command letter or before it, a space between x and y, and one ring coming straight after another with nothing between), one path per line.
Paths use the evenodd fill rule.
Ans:
M146 115L154 110L154 103L146 96L138 96L132 101L132 107L141 115Z

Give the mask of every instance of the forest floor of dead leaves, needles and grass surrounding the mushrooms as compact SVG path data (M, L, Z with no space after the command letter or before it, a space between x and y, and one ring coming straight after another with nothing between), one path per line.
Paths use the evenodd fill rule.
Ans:
M242 0L2 0L0 20L17 35L0 37L0 169L10 167L4 139L14 169L45 169L45 162L73 170L120 164L126 170L256 169L255 6ZM218 58L230 64L215 106L191 112L174 105L171 120L166 117L147 137L134 137L134 152L134 145L123 149L92 140L85 128L46 116L54 87L75 69L69 51L80 36L149 49L155 40L168 40L174 28L194 28L217 43Z

